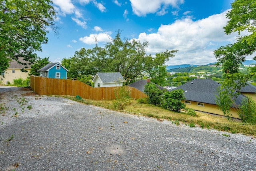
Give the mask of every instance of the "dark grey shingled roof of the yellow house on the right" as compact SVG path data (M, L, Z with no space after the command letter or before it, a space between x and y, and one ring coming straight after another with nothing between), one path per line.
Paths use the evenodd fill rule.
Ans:
M194 79L193 81L178 86L171 91L182 89L184 90L186 100L216 104L215 95L217 94L218 86L220 86L220 83L217 83L216 81L213 81L211 79ZM236 99L236 104L240 105L242 102L242 98L244 97L245 96L240 94Z

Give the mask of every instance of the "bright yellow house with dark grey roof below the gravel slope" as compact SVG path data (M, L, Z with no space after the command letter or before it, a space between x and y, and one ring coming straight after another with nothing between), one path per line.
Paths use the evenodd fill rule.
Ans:
M222 111L218 109L215 102L215 95L218 86L220 86L220 83L217 83L211 79L194 79L193 81L178 86L173 90L184 90L186 99L183 100L183 102L186 104L187 108L192 108L194 110L207 112L210 114L223 115ZM243 98L246 98L246 96L243 94L238 96L235 102L236 106L240 106ZM231 114L233 118L240 118L236 112L235 106L231 107Z

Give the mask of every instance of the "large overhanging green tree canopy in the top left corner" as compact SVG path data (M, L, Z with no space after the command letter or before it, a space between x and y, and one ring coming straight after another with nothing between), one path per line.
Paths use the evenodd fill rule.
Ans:
M33 63L48 41L48 27L56 32L55 19L51 0L0 0L0 72L10 60Z

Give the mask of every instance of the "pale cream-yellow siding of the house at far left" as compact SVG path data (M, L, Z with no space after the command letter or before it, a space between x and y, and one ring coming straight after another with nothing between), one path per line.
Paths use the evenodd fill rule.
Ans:
M12 73L12 70L14 70L15 72ZM24 69L24 70L28 72L21 72L20 69L17 69L17 68L6 69L6 73L4 73L5 78L1 78L0 81L2 82L3 85L6 85L6 81L10 81L10 83L12 84L14 79L19 79L19 78L26 79L27 77L29 77L28 73L30 73L30 69Z

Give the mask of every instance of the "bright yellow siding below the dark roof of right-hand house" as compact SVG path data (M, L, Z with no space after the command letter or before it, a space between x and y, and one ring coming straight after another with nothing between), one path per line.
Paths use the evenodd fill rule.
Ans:
M184 100L182 102L184 102ZM207 112L207 113L211 113L211 114L218 114L218 115L224 116L222 111L218 110L218 106L215 105L215 104L204 103L204 106L198 106L197 102L194 102L194 101L190 101L190 102L191 102L191 104L186 104L185 103L187 108L192 108L194 110L198 110L198 111L202 111L202 112ZM233 118L240 118L234 108L231 108L230 113L232 114Z

